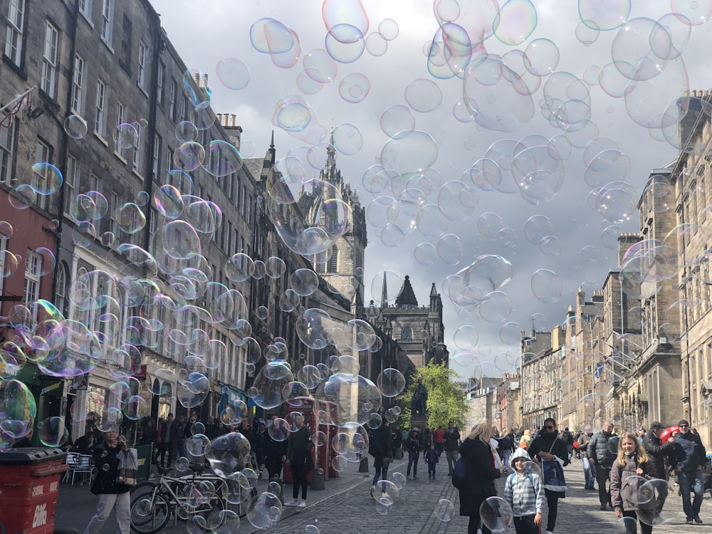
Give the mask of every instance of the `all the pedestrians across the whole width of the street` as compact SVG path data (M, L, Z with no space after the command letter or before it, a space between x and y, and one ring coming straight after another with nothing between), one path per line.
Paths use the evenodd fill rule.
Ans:
M142 425L139 442L154 445L155 463L170 466L174 460L187 456L186 440L196 429L203 430L209 439L231 431L239 431L251 444L250 466L258 476L271 479L281 477L283 466L290 466L293 476L293 498L286 506L304 508L307 498L307 476L314 468L311 450L314 447L311 430L301 414L294 414L296 431L288 439L274 439L267 424L258 419L253 430L247 419L239 425L226 426L219 419L208 418L199 423L197 412L189 419L168 414L158 424L147 421ZM276 416L275 416L276 417ZM198 426L195 426L199 423ZM464 439L463 439L464 438ZM454 422L444 429L413 427L409 431L384 420L377 429L369 432L369 454L373 456L375 474L371 495L387 491L388 467L394 458L407 454L407 478L418 479L420 456L427 466L428 478L436 479L437 466L445 454L448 476L455 473L460 458L464 460L464 481L457 485L460 493L460 515L468 516L468 534L491 534L480 517L481 504L497 495L496 480L507 476L503 498L513 511L513 523L518 534L539 534L543 525L546 503L545 533L553 534L557 523L559 500L566 496L563 467L572 461L581 461L585 474L585 489L597 491L600 510L612 510L623 519L627 533L652 532L651 518L659 515L668 497L667 483L656 484L655 493L646 503L636 498L639 486L646 481L676 478L682 500L686 523L703 523L701 504L705 491L703 470L708 467L705 447L689 422L681 419L669 428L653 422L648 430L617 435L614 424L606 421L600 430L571 432L567 427L560 431L554 419L545 419L535 431L511 429L500 432L486 423L476 425L469 434L461 435ZM123 436L115 431L105 432L97 439L92 432L78 439L74 447L93 454L97 464L110 462L110 469L102 471L95 481L93 491L100 496L97 514L85 533L98 532L112 508L117 510L117 528L124 531L127 521L125 493L128 487L116 480L117 456L127 450ZM403 456L401 456L403 455ZM538 468L532 468L535 462ZM453 480L455 483L455 480ZM691 497L693 495L693 497Z

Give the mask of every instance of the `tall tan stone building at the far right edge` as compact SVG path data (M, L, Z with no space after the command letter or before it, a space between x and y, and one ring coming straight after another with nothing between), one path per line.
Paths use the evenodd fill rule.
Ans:
M712 122L707 91L693 91L678 103L680 116L679 157L671 165L670 182L674 187L676 226L667 241L676 238L679 293L670 303L670 316L679 313L679 330L673 323L671 333L661 328L656 337L674 342L679 337L681 352L681 387L678 413L698 429L703 443L712 446L712 276L709 249L712 246L710 209L712 187L709 165ZM679 333L679 335L676 335ZM676 345L673 345L675 347Z

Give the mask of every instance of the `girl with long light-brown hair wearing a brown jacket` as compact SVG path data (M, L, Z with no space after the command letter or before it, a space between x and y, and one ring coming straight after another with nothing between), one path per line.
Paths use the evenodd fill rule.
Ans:
M636 534L636 497L641 478L645 478L648 455L635 434L624 434L618 444L618 459L611 468L611 502L618 518L633 518L626 521L627 534ZM642 534L651 534L653 528L640 522Z

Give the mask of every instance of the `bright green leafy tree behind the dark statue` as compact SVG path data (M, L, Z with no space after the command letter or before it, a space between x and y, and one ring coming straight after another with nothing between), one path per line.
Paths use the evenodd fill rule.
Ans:
M426 406L428 426L431 429L436 429L440 425L447 428L448 422L452 421L458 428L464 428L467 412L465 394L454 382L460 375L448 369L444 362L440 365L430 362L425 367L416 367L407 389L397 397L404 428L408 429L411 426L410 401L418 384L419 375L422 375L423 385L428 390Z

